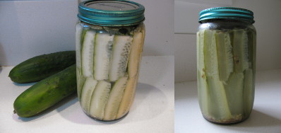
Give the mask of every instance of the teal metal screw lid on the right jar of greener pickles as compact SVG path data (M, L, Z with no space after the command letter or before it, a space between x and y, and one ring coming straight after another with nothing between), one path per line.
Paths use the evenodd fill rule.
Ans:
M253 12L245 8L235 7L215 7L207 8L199 13L199 23L210 19L235 19L255 23Z

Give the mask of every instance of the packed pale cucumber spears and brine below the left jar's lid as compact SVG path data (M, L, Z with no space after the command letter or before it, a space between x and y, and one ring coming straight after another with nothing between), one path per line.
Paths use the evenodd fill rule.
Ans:
M76 24L77 93L85 114L96 120L124 117L133 103L145 37L131 26Z

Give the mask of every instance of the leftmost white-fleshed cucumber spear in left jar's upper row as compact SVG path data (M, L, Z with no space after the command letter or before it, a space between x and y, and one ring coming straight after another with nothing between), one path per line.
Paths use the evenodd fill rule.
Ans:
M95 31L88 30L85 33L83 41L81 64L82 74L85 77L93 75L95 35Z

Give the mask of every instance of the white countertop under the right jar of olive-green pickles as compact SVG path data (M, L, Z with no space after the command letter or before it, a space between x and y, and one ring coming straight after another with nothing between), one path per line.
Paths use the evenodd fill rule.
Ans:
M236 125L216 125L201 115L196 81L175 84L175 132L281 132L281 69L257 71L250 117Z

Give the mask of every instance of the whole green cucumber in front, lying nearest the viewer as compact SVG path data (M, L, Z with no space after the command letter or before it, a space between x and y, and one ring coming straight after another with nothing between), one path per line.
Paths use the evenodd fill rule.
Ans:
M76 64L35 83L16 98L14 112L20 117L32 117L76 93Z

